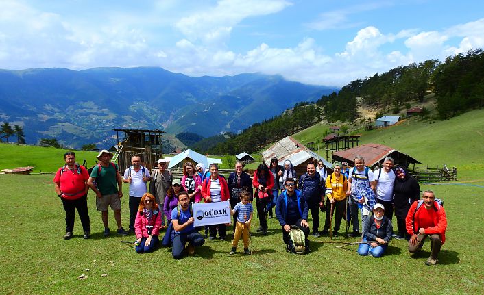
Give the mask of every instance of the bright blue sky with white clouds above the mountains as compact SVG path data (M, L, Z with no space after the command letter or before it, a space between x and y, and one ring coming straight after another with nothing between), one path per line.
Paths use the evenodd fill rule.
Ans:
M0 0L0 68L156 66L345 86L484 48L474 0Z

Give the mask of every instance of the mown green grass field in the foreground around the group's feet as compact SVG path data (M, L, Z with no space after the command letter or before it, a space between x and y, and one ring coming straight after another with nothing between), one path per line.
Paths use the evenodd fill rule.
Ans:
M251 256L228 255L230 230L226 241L208 242L197 249L195 257L174 261L169 248L139 255L120 242L134 240L134 235L103 238L92 192L88 196L92 238L82 239L76 217L75 237L62 240L64 210L51 179L43 175L0 175L4 196L0 208L0 294L176 294L186 290L198 294L294 294L294 289L303 294L366 294L374 285L378 285L374 292L385 294L484 291L484 205L478 199L484 188L422 185L422 189L431 188L444 198L448 216L447 241L437 266L424 265L428 243L423 253L413 257L402 240L392 240L387 255L374 259L359 257L356 246L339 249L325 243L330 241L328 237L311 236L313 252L292 255L282 246L275 219L269 220L269 235L252 231ZM128 186L123 188L127 196ZM123 198L124 227L128 225L127 201ZM112 212L110 225L113 230ZM257 226L254 218L254 229ZM88 277L79 280L80 274Z

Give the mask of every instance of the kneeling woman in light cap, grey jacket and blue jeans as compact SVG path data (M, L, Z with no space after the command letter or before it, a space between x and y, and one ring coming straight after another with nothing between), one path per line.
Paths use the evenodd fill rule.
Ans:
M387 250L388 242L394 233L391 227L391 220L385 217L385 208L381 204L373 207L373 215L367 218L363 225L363 242L376 241L371 244L360 244L358 248L359 255L372 255L375 258L381 257Z

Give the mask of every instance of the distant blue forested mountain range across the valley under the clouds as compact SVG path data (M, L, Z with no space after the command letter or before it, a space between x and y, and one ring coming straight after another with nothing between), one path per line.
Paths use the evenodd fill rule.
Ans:
M334 87L245 73L189 77L163 68L0 70L0 120L24 127L27 143L114 142L113 128L163 129L204 137L238 133Z

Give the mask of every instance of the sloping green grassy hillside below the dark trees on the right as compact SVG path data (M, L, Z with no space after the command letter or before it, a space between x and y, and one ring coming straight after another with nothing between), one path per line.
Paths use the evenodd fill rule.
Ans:
M303 144L323 138L326 126L315 125L295 133ZM408 153L424 166L456 166L459 181L476 176L475 170L484 170L484 110L473 110L443 121L403 120L396 126L356 132L361 144L378 143ZM315 148L317 150L317 148ZM323 144L319 154L326 156Z

